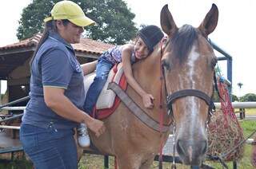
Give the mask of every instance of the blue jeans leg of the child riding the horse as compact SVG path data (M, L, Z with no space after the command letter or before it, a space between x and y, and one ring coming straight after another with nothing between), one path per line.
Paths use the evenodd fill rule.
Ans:
M99 59L96 66L96 76L94 82L90 85L86 94L86 101L84 104L84 110L86 113L91 114L94 109L94 105L97 103L98 96L102 92L102 88L106 84L107 77L114 64L102 57Z

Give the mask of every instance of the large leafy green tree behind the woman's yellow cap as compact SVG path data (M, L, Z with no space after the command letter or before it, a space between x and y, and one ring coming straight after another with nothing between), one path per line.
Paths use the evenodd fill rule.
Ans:
M34 0L22 11L17 37L19 40L42 32L43 19L60 0ZM87 17L96 24L86 27L86 37L116 45L122 45L135 37L138 29L132 21L135 14L127 8L123 0L74 0L84 10Z

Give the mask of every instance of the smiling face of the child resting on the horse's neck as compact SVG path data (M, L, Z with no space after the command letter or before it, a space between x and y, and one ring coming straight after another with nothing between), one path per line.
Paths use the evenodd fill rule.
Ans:
M134 51L135 57L138 59L143 59L150 53L141 37L138 37L138 40L135 42Z

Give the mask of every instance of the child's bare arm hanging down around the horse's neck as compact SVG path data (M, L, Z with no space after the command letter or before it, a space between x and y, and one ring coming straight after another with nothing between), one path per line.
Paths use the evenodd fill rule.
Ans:
M122 49L122 67L127 79L128 84L134 88L136 92L138 92L139 96L142 97L143 104L146 108L153 108L154 104L152 100L154 97L145 92L143 88L138 84L138 82L134 79L134 75L131 69L130 57L133 51L133 45L125 45Z

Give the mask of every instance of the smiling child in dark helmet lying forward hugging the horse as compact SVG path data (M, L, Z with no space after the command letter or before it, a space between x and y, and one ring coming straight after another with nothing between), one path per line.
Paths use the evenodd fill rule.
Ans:
M93 111L98 96L106 83L110 69L120 62L122 62L128 84L142 97L145 108L153 108L152 100L154 100L154 97L150 93L145 92L134 79L131 65L148 57L154 51L154 46L162 40L163 36L162 30L158 26L145 26L138 31L138 38L134 44L118 45L102 53L96 66L96 77L94 77L94 82L90 85L87 92L84 104L85 112L91 113ZM82 147L90 145L90 138L84 124L78 128L78 143Z

